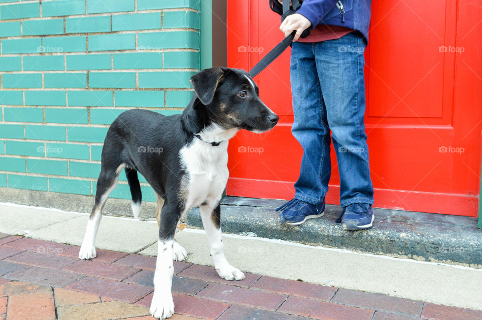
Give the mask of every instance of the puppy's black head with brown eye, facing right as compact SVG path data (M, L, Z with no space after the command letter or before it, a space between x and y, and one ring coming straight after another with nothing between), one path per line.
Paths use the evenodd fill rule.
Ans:
M264 104L249 73L240 69L204 69L191 78L210 120L225 128L257 133L272 129L279 117Z

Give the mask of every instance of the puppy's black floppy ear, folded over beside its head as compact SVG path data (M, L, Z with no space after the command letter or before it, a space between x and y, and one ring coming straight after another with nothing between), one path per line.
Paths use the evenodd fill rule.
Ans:
M221 80L224 72L220 68L204 69L191 77L192 87L197 97L204 105L211 103L214 98L219 80Z

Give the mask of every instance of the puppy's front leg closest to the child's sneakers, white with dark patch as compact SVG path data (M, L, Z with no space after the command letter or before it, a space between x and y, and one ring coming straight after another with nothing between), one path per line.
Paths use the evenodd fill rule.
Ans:
M239 269L233 267L227 262L224 256L224 245L221 238L221 223L220 214L221 207L219 203L209 206L200 206L202 224L206 231L207 241L209 242L209 251L214 261L214 268L221 278L226 280L242 280L245 278L245 274Z

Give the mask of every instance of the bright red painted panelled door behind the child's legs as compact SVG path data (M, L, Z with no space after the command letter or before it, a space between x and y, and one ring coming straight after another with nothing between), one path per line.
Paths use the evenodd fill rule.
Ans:
M366 58L375 207L476 216L482 130L482 0L372 3ZM268 0L228 0L228 66L250 70L283 38ZM278 115L229 142L232 196L291 199L302 149L291 135L289 49L255 77ZM332 149L327 203L339 204Z

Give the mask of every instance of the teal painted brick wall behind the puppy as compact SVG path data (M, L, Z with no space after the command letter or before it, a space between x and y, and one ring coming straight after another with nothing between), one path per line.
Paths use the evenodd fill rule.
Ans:
M0 3L0 187L93 195L115 117L189 103L199 0ZM119 180L111 196L130 199Z

